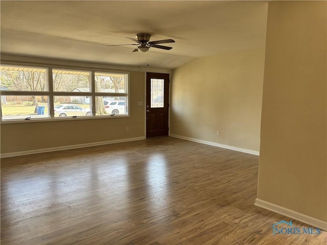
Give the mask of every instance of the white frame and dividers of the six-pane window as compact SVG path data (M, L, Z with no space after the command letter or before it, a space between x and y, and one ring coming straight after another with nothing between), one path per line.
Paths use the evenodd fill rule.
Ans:
M59 66L59 65L45 65L45 64L17 64L16 62L2 62L1 66L16 66L16 67L29 67L29 68L40 68L46 69L46 74L48 75L48 91L17 91L17 90L0 90L1 96L3 95L43 95L48 96L48 117L42 118L31 118L31 119L3 119L2 116L2 105L0 105L0 124L17 124L17 123L29 123L29 122L46 122L46 121L65 121L65 120L89 120L89 119L112 119L112 118L122 118L130 117L130 72L124 70L107 70L107 69L97 69L89 67L78 67L78 66ZM89 72L90 76L90 91L89 92L69 92L69 91L54 91L53 88L53 69L61 70L77 70ZM107 74L123 74L125 76L125 93L116 93L116 92L95 92L95 73L96 72L105 72ZM54 115L54 96L89 96L90 97L90 115L88 116L77 116L77 117L55 117ZM96 96L125 96L126 103L126 114L118 115L96 115Z

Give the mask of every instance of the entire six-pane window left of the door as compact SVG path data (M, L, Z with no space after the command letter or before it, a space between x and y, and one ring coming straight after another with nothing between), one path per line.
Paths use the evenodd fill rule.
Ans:
M127 73L2 65L0 82L1 121L128 115Z

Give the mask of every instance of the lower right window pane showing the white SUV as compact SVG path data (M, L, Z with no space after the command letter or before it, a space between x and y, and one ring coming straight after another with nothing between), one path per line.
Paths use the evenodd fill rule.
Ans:
M126 97L96 96L96 115L127 115Z

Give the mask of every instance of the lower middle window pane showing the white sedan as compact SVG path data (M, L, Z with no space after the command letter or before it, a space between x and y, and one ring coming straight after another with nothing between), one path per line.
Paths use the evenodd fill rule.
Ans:
M54 96L55 117L90 116L90 96Z

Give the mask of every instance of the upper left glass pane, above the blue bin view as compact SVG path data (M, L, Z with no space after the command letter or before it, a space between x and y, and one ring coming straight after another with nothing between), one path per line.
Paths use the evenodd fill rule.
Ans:
M44 68L1 66L1 90L48 91L46 73Z

